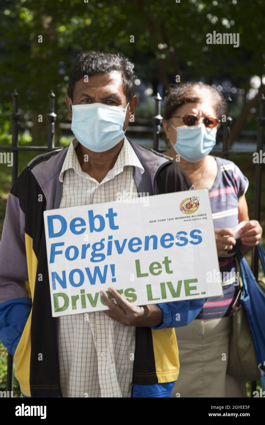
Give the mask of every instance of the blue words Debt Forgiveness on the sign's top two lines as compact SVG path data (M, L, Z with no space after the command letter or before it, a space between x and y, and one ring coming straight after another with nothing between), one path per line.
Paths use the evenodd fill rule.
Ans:
M108 226L111 231L119 229L117 223L115 223L115 217L117 212L113 211L113 208L108 209L108 213L105 214L105 218L108 219ZM73 218L69 225L66 219L59 214L49 215L47 217L48 224L48 238L60 238L63 236L67 229L73 235L82 235L86 232L102 232L105 229L106 221L103 215L94 215L93 210L88 210L88 224L82 217ZM57 227L55 231L54 227ZM58 230L59 226L59 230ZM114 233L114 232L113 232ZM118 255L123 252L139 252L140 250L149 251L162 248L171 248L172 246L185 246L188 243L192 245L198 245L202 242L202 232L199 229L193 229L189 232L189 235L185 231L179 231L176 234L163 233L160 236L157 235L146 235L143 238L137 236L133 238L115 239L114 235L108 235L108 239L100 239L100 241L94 242L93 244L82 244L82 246L76 246L74 244L65 246L64 242L51 243L49 263L55 262L56 256L63 255L66 260L74 261L77 258L83 260L89 260L92 263L104 261L107 256L111 256L114 253Z

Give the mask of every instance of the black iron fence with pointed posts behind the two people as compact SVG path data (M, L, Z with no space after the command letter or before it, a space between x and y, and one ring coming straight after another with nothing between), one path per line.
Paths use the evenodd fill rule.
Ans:
M19 151L36 151L36 152L49 152L51 150L59 149L60 147L54 147L54 133L55 133L55 121L57 118L56 113L54 112L54 98L55 94L53 91L49 94L49 112L47 114L48 119L48 141L47 146L19 146L18 145L18 128L20 113L18 113L18 93L15 90L12 94L13 98L13 110L11 114L12 119L12 145L11 146L0 146L0 150L11 151L13 153L13 167L12 167L12 185L17 179L18 173L18 152ZM161 96L158 93L154 98L155 100L155 116L154 116L154 150L161 152L160 149L160 133L162 127L163 117L161 116ZM223 122L223 139L222 139L222 149L214 150L214 153L220 154L223 158L229 159L230 155L247 155L252 156L252 151L248 150L231 150L229 146L229 135L230 127L232 123L232 118L230 116L230 104L231 98L228 97L228 116L226 116L226 121ZM257 141L256 141L256 152L262 152L263 147L263 136L264 136L264 127L265 127L265 97L262 94L262 97L259 99L259 116L256 119L258 130L257 130ZM256 187L255 187L255 220L260 221L260 208L261 208L261 184L262 184L262 162L256 164ZM258 277L258 253L254 248L252 250L252 262L251 268L254 273L254 276ZM13 389L13 356L8 354L8 369L7 369L7 385L6 391L12 391ZM251 393L256 389L256 382L252 382Z

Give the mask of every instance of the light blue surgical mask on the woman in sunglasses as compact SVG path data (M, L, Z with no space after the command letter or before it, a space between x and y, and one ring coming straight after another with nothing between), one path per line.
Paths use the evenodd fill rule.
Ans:
M173 127L177 131L177 142L173 145L177 153L187 161L197 162L208 155L216 144L217 128L207 128L204 124L191 127Z

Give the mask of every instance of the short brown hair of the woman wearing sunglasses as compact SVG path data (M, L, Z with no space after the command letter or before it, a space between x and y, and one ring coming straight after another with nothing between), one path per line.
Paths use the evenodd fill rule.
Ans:
M199 102L205 97L210 97L215 108L217 118L226 114L226 103L222 94L208 84L201 82L185 82L177 87L171 87L164 99L165 119L170 119L185 103Z

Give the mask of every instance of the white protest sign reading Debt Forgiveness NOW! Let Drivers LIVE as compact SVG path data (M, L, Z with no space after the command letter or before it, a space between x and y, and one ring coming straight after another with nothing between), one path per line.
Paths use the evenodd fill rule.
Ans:
M208 189L44 212L52 315L222 295Z

